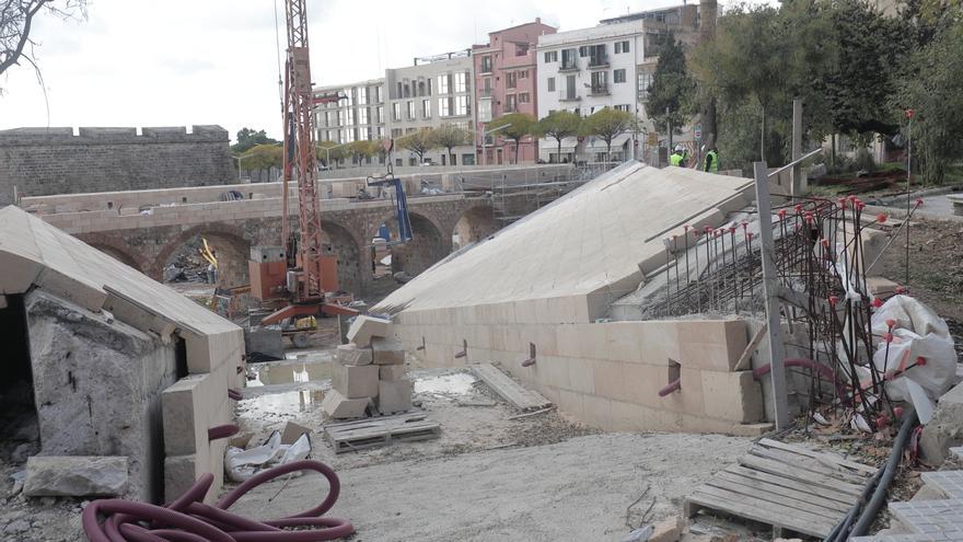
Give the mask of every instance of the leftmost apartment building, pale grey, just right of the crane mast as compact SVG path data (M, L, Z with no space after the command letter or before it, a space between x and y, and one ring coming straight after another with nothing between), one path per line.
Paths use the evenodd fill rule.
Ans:
M314 108L315 139L347 145L387 137L384 79L315 87L315 97L340 96Z

